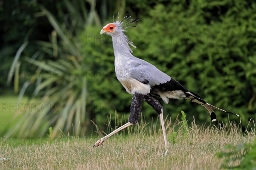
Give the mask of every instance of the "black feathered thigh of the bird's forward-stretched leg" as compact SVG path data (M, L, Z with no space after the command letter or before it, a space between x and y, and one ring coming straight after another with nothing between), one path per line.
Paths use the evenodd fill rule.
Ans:
M135 93L134 95L132 95L131 112L130 112L130 117L128 119L128 121L132 124L136 124L138 122L144 96L145 95L141 95L138 93Z

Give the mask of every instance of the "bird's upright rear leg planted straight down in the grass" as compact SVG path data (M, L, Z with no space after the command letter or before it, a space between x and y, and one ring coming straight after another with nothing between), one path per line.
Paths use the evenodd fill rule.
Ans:
M165 149L166 149L165 155L166 155L168 152L168 143L167 143L166 131L165 131L164 121L163 121L163 106L160 104L160 102L157 99L153 98L149 94L145 95L144 99L159 114L160 123L161 123L161 127L163 130L163 140L164 140L164 144L165 144Z

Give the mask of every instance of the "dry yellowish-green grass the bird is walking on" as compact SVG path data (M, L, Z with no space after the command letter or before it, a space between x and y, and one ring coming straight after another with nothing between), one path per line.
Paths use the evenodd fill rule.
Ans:
M246 134L236 124L218 127L197 126L192 122L184 137L183 121L166 121L169 153L163 156L162 132L153 124L140 122L92 148L99 138L64 137L52 144L12 147L1 144L0 169L220 169L222 159L215 153L225 145L251 142L255 127ZM239 163L239 162L236 162Z

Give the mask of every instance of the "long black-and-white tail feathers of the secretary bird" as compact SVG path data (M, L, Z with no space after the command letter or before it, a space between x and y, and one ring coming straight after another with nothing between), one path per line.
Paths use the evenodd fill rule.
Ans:
M201 104L203 107L205 107L208 112L210 113L210 116L211 116L211 120L212 121L216 121L216 115L215 115L215 112L213 112L212 109L216 109L216 110L220 110L222 112L226 112L226 113L230 113L230 114L233 114L233 115L236 115L239 117L239 115L233 113L233 112L227 112L226 110L223 110L223 109L220 109L218 107L215 107L209 103L207 103L206 101L202 100L197 94L193 93L193 92L185 92L186 94L186 99L190 100L190 101L193 101L195 103L198 103L198 104Z

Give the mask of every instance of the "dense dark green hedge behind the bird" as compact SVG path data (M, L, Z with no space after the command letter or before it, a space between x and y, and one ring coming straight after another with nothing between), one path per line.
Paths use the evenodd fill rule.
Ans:
M210 2L150 3L143 7L147 11L139 15L138 27L128 29L127 34L137 46L133 48L135 56L154 64L207 102L241 115L246 126L248 118L255 120L256 110L256 4ZM131 95L115 77L111 37L101 37L100 29L87 28L81 35L87 110L98 124L106 123L107 115L115 110L127 120L131 104ZM184 110L189 120L194 116L197 122L210 122L207 110L190 101L171 100L163 106L165 115L172 118ZM147 119L157 115L147 104L142 112ZM216 113L218 120L227 120L225 113ZM233 115L230 119L240 121Z

